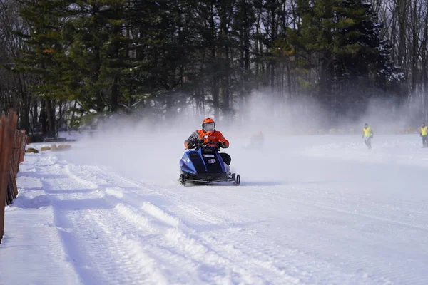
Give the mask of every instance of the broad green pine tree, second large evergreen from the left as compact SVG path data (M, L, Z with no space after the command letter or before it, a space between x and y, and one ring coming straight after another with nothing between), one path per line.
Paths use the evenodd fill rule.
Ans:
M66 27L68 92L83 111L115 112L128 72L126 1L77 1Z

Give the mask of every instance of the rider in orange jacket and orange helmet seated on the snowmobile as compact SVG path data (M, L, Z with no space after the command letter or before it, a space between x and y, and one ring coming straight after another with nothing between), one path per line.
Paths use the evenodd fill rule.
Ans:
M215 130L214 120L211 118L206 118L202 122L202 129L195 130L187 140L184 141L184 146L186 148L194 148L198 143L203 142L203 144L209 147L216 147L219 149L220 147L228 148L229 142L220 133L218 130ZM220 153L221 158L225 164L230 165L230 155L225 152Z

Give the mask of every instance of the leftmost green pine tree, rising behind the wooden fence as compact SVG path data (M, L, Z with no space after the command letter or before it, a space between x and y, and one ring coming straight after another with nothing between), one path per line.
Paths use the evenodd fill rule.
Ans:
M44 100L42 130L50 137L56 136L55 100L66 99L61 69L66 46L61 35L65 11L70 4L71 1L60 0L19 1L21 17L29 29L26 33L17 33L28 48L22 51L22 59L16 60L16 69L39 77L39 83L30 87L36 96Z

